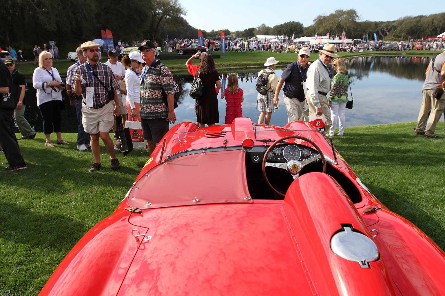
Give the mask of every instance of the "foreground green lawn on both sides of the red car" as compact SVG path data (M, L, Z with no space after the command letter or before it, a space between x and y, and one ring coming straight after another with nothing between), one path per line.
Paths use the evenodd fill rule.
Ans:
M436 139L414 136L413 126L348 127L333 140L384 205L445 249L444 122ZM0 295L36 295L77 241L113 212L149 157L118 154L121 168L112 172L102 145L102 169L89 173L91 152L76 150L77 134L62 136L71 145L46 148L42 133L19 141L28 168L0 172Z

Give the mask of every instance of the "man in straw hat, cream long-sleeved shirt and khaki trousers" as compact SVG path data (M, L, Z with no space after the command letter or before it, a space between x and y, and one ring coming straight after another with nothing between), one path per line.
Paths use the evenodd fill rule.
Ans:
M316 113L324 114L326 122L324 122L325 130L329 130L332 125L331 115L328 108L328 92L331 90L332 69L329 64L332 58L338 58L335 53L335 47L326 43L320 50L320 57L312 63L307 70L307 104L309 105L309 116Z

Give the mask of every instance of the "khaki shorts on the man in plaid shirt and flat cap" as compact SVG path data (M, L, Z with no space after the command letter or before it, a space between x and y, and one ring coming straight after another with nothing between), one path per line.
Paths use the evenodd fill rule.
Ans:
M114 124L113 110L114 106L111 103L99 109L86 107L82 103L82 124L85 132L88 134L97 134L99 131L109 132Z

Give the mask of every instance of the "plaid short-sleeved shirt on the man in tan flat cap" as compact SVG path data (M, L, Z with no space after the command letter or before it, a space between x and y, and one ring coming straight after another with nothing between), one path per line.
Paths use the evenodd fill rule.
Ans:
M93 71L94 74L97 75L97 78L101 79L102 83L105 85L105 88L102 86L102 83L97 80L96 76L92 76L93 79L90 81L90 74L88 73L86 66L88 64L89 70ZM82 102L86 105L86 87L94 88L94 96L93 96L93 108L97 109L105 106L106 103L109 102L107 91L111 88L113 91L117 91L119 89L119 83L117 83L116 78L111 71L111 68L107 65L97 62L95 66L93 66L93 70L91 65L88 62L78 66L74 70L74 74L84 75L83 78L86 81L86 84L81 84L82 86Z

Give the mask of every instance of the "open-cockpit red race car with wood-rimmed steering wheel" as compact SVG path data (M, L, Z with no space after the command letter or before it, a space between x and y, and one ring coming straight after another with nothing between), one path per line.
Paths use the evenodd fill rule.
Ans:
M174 126L40 296L443 295L445 254L307 122Z

